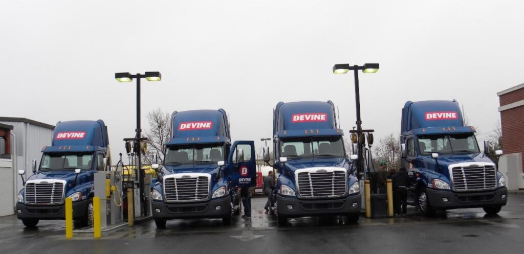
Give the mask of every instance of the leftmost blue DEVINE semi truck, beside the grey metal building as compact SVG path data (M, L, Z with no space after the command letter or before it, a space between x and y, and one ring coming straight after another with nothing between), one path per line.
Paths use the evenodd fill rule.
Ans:
M25 226L40 219L64 219L64 198L73 199L77 227L92 222L94 174L110 162L107 127L102 120L58 122L52 145L42 148L40 165L18 193L16 215ZM25 172L20 170L19 174Z

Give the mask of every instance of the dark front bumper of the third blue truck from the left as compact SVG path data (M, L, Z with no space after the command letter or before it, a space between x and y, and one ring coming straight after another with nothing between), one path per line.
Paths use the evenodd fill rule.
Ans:
M288 218L315 215L347 215L360 212L361 194L318 200L304 200L277 195L277 207L278 214Z

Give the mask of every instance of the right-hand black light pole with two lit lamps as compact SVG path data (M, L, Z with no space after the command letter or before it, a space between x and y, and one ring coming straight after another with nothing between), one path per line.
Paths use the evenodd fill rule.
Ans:
M362 70L364 73L375 73L378 71L378 63L366 63L362 66L358 65L350 65L348 63L341 63L341 64L335 64L333 66L333 73L334 74L346 74L348 71L352 70L355 74L355 104L356 104L356 111L357 111L357 129L356 131L350 131L354 132L357 135L357 152L358 152L358 160L357 163L357 170L358 173L363 173L363 161L362 161L362 145L365 141L364 139L364 132L373 132L373 130L366 130L364 131L362 129L362 120L360 116L360 90L358 86L358 71Z

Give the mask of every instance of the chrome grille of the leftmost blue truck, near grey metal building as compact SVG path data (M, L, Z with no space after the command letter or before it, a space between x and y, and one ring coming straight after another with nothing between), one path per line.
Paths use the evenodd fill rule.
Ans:
M25 201L26 204L61 204L63 191L63 183L27 183Z

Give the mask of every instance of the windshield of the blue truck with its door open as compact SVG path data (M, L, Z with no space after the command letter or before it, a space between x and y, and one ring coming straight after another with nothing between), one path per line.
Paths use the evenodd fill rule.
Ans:
M169 146L164 164L216 163L221 160L224 160L224 146L221 143Z

